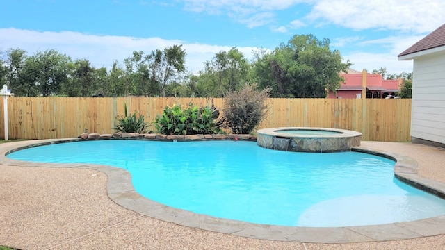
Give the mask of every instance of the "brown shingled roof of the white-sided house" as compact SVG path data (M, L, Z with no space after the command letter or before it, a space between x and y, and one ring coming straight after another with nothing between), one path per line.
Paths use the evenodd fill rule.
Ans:
M437 28L432 33L426 35L419 42L416 42L412 47L409 47L398 56L406 56L411 53L416 53L419 51L425 51L427 49L432 49L436 47L445 46L445 24Z

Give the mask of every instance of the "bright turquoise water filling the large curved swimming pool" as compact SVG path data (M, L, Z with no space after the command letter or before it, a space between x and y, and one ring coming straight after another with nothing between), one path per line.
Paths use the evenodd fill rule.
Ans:
M33 147L9 158L127 169L144 197L215 217L284 226L359 226L442 215L445 201L394 178L366 153L296 153L255 142L97 140Z

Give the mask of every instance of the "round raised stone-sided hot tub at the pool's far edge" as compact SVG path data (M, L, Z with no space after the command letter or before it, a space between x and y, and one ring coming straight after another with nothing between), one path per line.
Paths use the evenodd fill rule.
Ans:
M282 151L329 153L360 145L362 133L337 128L282 127L257 131L257 144Z

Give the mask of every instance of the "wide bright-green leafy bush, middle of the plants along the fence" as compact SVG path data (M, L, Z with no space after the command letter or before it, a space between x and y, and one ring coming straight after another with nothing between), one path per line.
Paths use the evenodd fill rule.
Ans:
M179 105L165 106L162 115L153 122L157 133L164 135L197 135L220 133L220 128L213 119L211 107L202 107L189 103L188 107Z

